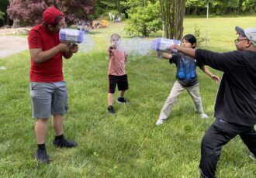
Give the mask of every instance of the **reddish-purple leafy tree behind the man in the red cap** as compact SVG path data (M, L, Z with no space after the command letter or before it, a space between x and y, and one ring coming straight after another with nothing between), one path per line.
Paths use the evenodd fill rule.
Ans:
M85 19L92 13L96 0L12 0L7 12L13 19L13 27L35 25L41 22L41 15L47 7L54 5L65 13L67 22Z

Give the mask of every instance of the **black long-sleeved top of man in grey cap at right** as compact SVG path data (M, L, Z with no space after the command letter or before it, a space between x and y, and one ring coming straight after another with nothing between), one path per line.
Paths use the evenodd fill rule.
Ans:
M256 52L214 53L195 50L195 59L224 72L216 96L215 118L226 122L256 124Z

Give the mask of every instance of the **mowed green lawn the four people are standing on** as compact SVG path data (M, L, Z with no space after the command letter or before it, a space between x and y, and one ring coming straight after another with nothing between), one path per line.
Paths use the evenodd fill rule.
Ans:
M185 19L185 33L197 24L204 35L206 19ZM126 66L130 89L127 104L114 103L116 115L106 111L109 36L123 31L123 23L92 31L94 50L64 60L69 112L64 135L78 142L75 149L56 149L48 127L46 145L50 165L36 163L34 120L29 97L29 51L0 60L0 175L1 177L199 177L202 135L214 121L218 84L198 70L204 111L195 114L186 91L178 98L168 122L154 124L175 82L175 65L153 54L133 56ZM234 27L256 26L255 17L209 19L209 43L219 52L235 50ZM161 33L153 34L151 38ZM221 77L222 73L210 69ZM118 96L116 92L116 97ZM51 119L50 119L51 120ZM255 162L239 137L223 147L219 177L255 177Z

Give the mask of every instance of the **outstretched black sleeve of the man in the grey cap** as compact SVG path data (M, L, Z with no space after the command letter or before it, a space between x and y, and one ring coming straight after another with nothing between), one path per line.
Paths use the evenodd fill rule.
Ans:
M195 50L195 59L216 70L227 71L242 65L240 52L215 53L209 50Z

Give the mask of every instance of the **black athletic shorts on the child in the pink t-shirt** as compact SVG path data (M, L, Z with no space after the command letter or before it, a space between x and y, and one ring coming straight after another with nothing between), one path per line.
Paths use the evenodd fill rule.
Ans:
M109 93L113 94L116 91L116 84L119 91L128 90L128 78L127 75L116 76L109 75Z

